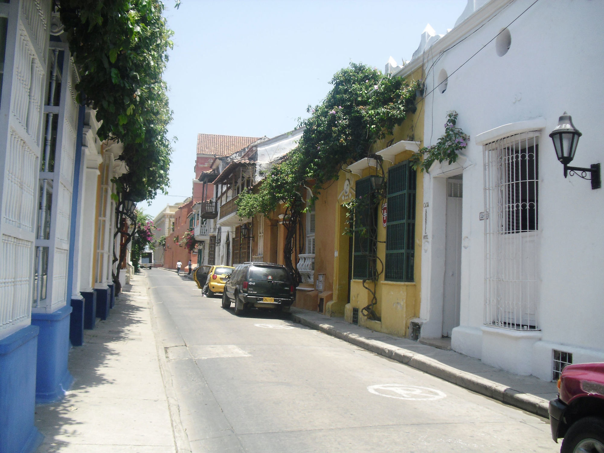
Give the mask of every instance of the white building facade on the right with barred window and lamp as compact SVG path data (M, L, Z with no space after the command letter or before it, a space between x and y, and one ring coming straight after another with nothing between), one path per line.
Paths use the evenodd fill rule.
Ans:
M583 133L571 165L604 158L603 16L601 2L471 0L397 73L424 65L426 146L449 111L471 137L424 175L422 338L547 381L604 361L604 190L565 179L548 136L567 111Z

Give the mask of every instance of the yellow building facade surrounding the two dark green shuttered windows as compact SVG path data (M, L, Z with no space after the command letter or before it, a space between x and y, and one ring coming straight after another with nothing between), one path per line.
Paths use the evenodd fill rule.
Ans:
M413 79L419 79L420 71L413 74ZM423 178L420 170L410 168L411 155L417 152L423 146L423 99L418 98L417 110L415 114L407 115L403 124L396 128L393 137L387 137L385 140L376 143L373 146L373 153L381 155L382 168L384 175L381 175L380 165L371 161L371 159L362 159L349 165L347 169L341 172L338 179L338 204L335 210L336 231L338 234L333 243L333 255L335 262L333 267L333 301L326 306L326 314L330 316L344 315L345 320L350 323L365 326L378 332L390 333L396 336L408 336L410 321L419 316L420 310L420 289L421 289L421 257L422 257L422 213L423 213ZM405 163L406 162L406 163ZM377 165L372 165L377 164ZM403 168L404 167L404 168ZM387 260L387 222L394 215L392 211L394 206L384 206L387 200L379 202L376 215L377 219L377 248L376 248L376 268L379 272L377 283L366 281L376 295L377 303L372 307L376 313L377 319L369 319L362 313L362 309L367 307L373 300L373 295L363 286L361 278L355 278L355 246L358 241L351 240L350 236L343 234L352 228L350 218L347 216L347 208L343 205L352 201L357 194L355 188L358 181L368 178L372 175L384 176L384 184L388 184L389 170L405 170L411 178L414 173L414 184L412 194L408 199L413 199L413 207L406 207L406 225L413 225L413 231L406 226L405 241L413 245L408 245L411 252L407 251L405 257L406 265L410 269L405 270L407 278L393 278L393 274L400 274L400 269L394 272L387 272L388 266L393 268L400 263L395 259ZM394 175L394 173L393 173ZM392 190L392 188L390 188ZM383 217L382 210L387 208L386 216ZM410 208L413 211L410 211ZM410 220L411 219L411 220ZM384 221L382 221L384 220ZM318 222L321 222L318 217ZM322 229L322 226L318 226ZM357 234L357 233L355 233ZM392 234L392 233L391 233ZM390 240L390 242L393 242ZM353 254L353 255L351 255ZM358 255L358 253L356 254ZM388 273L391 275L389 276ZM402 281L406 280L406 281Z

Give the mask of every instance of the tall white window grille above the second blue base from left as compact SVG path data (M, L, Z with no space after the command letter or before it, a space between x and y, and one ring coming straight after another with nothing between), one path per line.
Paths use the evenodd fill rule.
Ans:
M48 75L43 107L45 133L39 167L40 199L36 262L33 266L33 308L53 312L65 305L67 297L69 228L79 113L75 89L79 78L65 44L51 43ZM43 96L39 98L43 100Z

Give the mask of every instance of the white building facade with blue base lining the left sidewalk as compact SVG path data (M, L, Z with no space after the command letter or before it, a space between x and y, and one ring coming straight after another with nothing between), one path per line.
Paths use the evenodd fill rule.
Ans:
M114 300L111 179L126 169L115 161L121 146L101 146L94 112L76 100L79 75L53 8L50 0L0 3L0 451L7 453L37 448L34 405L69 390L70 342L81 345L83 329L94 327L97 290L105 313Z

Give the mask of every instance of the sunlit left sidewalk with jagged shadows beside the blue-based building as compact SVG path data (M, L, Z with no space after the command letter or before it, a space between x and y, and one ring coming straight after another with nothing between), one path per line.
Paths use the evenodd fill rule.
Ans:
M171 381L164 386L165 356L156 347L144 276L132 283L109 318L97 320L84 345L69 353L72 390L60 402L36 406L45 436L38 452L187 451L176 448L185 444L178 411L170 412Z

